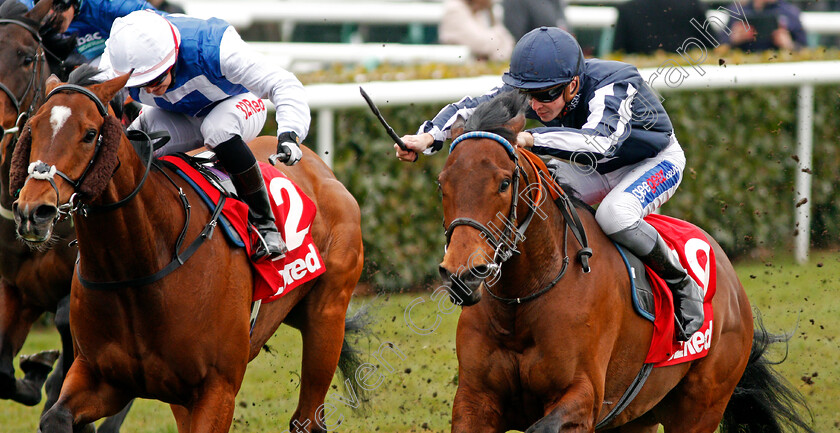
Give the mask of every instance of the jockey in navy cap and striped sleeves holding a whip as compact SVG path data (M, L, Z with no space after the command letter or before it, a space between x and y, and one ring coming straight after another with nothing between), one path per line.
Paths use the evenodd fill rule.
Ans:
M659 98L629 64L584 59L575 38L541 27L517 42L503 86L465 97L402 137L397 157L413 161L451 138L457 117L502 92L530 96L526 116L544 127L521 132L517 145L552 160L555 178L589 204L604 232L639 256L670 288L677 338L686 341L703 325L703 294L665 241L642 218L661 207L682 181L685 154Z

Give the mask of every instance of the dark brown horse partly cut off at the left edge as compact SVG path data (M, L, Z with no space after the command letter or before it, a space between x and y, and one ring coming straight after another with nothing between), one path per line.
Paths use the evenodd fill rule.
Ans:
M62 299L70 294L76 255L67 246L73 236L69 221L56 227L56 242L50 249L33 251L19 242L8 188L18 128L43 101L44 82L50 75L46 60L49 54L39 35L50 5L49 1L40 2L27 11L22 4L7 1L0 7L0 398L26 405L41 400L41 386L52 364L30 363L24 378L15 379L13 358L35 320L46 311L61 310ZM69 355L59 359L59 368L47 382L46 407L58 398L64 374L73 361L66 318L62 311L56 314L63 353ZM21 367L26 366L22 363Z

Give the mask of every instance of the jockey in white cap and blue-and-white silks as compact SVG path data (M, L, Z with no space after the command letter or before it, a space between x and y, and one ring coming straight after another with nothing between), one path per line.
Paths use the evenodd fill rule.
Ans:
M245 143L262 130L262 98L268 98L276 108L280 160L300 160L299 143L310 122L300 81L254 51L225 21L148 10L114 21L99 66L106 78L133 71L126 87L145 106L129 129L168 131L172 139L158 156L202 145L215 151L260 235L254 258L280 258L286 245L260 166Z

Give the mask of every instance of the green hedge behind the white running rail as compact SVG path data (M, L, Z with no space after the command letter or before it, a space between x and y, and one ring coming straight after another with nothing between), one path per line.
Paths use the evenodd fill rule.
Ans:
M814 118L812 242L840 243L838 184L840 87L818 87ZM709 231L728 254L793 244L796 90L676 92L664 102L688 166L663 213ZM440 106L383 107L400 134L413 133ZM317 140L313 121L312 135ZM446 154L415 164L396 160L393 142L367 109L337 111L334 170L362 208L364 280L379 290L434 281L443 257L435 178Z

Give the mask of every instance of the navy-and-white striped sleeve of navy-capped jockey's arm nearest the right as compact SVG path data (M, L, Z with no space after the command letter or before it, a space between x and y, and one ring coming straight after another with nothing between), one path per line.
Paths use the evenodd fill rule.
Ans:
M637 86L630 82L610 83L596 89L586 102L589 115L580 129L544 127L529 131L534 136L534 151L614 155L630 135L632 104L637 93Z

